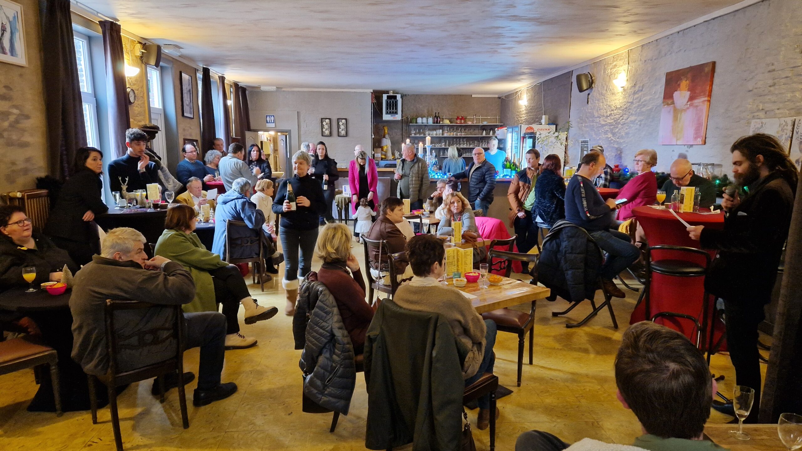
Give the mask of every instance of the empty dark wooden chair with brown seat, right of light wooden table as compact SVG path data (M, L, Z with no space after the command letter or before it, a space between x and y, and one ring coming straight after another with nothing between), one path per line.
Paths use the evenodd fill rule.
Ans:
M509 277L512 273L512 261L537 265L537 257L537 254L520 254L496 249L490 249L488 253L488 260L501 259L505 264L505 277ZM533 280L533 282L537 284L537 280ZM510 308L499 308L492 312L482 313L482 318L493 320L496 323L496 328L501 332L510 332L518 336L518 386L520 387L520 374L524 365L524 339L527 333L529 333L529 364L533 363L535 301L532 301L532 308L529 309L529 313L519 312Z

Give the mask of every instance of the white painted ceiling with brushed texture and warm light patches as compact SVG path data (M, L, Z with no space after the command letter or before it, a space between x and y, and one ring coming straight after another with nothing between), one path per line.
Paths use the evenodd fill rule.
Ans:
M247 85L502 94L737 0L81 0Z

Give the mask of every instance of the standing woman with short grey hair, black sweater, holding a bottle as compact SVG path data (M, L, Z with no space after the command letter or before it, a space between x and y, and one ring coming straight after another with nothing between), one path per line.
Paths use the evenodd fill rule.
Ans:
M282 215L278 224L278 239L282 241L286 264L282 287L287 299L284 312L288 316L295 314L298 277L305 277L312 270L314 244L318 240L318 218L327 205L321 184L309 175L311 163L309 152L295 152L294 175L282 180L273 199L273 213ZM294 202L287 199L288 187L294 194Z

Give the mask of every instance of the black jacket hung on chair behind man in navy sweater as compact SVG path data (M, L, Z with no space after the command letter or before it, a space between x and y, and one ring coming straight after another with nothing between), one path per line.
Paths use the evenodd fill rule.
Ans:
M554 223L543 240L541 258L537 261L537 277L556 296L579 302L593 299L602 268L602 251L584 228L565 219Z

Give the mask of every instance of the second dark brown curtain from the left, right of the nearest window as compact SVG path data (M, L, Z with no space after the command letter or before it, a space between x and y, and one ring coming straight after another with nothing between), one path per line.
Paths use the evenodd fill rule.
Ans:
M108 96L108 131L111 138L111 155L125 155L125 131L131 128L128 112L128 94L125 92L125 54L119 23L109 20L98 22L103 30L103 54L106 57L106 87Z

